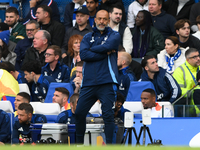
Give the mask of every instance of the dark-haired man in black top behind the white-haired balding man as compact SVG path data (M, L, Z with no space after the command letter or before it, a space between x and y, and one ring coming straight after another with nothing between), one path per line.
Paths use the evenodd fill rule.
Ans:
M51 7L47 5L40 5L36 11L37 22L40 23L40 29L46 30L51 35L51 44L62 46L65 27L62 23L52 20L52 10Z

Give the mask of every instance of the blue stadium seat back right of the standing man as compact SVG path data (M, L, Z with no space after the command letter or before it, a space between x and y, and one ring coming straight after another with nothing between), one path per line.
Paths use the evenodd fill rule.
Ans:
M155 91L154 85L150 81L131 81L126 101L141 101L142 91L147 88Z

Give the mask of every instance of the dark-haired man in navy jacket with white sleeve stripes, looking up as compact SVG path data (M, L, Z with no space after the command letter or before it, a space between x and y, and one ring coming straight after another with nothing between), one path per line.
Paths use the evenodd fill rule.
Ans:
M165 69L158 67L154 56L145 56L141 64L144 68L141 81L151 81L153 83L157 94L157 101L173 103L181 96L179 84Z

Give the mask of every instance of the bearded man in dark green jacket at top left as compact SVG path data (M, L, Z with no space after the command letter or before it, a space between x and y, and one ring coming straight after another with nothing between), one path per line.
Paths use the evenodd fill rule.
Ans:
M25 27L19 20L19 12L15 7L6 9L5 23L10 28L10 40L17 43L26 37Z

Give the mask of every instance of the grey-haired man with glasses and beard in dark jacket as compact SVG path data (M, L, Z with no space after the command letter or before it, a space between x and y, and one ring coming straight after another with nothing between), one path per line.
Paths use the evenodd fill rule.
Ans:
M31 20L26 24L26 38L23 40L20 40L17 43L17 46L15 48L15 53L17 54L15 69L20 70L26 50L32 45L33 38L35 33L40 29L40 25L37 21Z

